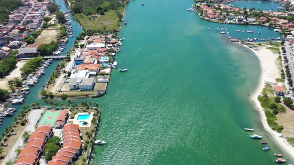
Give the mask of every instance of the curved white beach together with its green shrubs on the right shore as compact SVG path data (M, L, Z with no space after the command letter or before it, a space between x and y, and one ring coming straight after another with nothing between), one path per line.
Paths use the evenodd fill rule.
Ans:
M260 61L260 81L250 98L260 112L263 127L272 135L274 140L294 158L294 138L292 138L294 135L291 135L290 138L284 135L284 131L291 128L291 123L283 123L283 125L281 125L279 121L281 118L281 116L279 116L280 114L287 115L292 111L289 107L293 106L293 101L289 101L287 97L284 97L284 99L280 96L277 97L273 90L273 86L281 85L285 89L285 92L287 92L285 83L283 81L276 81L277 79L285 79L282 77L282 71L284 72L284 70L279 70L280 67L282 67L280 51L278 53L276 49L274 49L274 51L268 49L269 45L261 45L260 43L253 45L239 44L251 50ZM286 134L290 135L290 133Z

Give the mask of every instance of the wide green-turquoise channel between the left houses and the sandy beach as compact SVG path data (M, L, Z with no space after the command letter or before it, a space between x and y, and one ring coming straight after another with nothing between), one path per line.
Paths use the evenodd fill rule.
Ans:
M92 164L275 164L273 154L283 151L263 130L247 97L259 80L258 58L215 30L224 25L186 11L191 0L142 2L128 4L128 25L119 33L126 40L116 60L119 68L127 64L129 71L114 70L107 93L87 99L100 103L97 139L107 141L95 146ZM240 26L226 27L233 31ZM250 28L264 36L278 35L266 27ZM40 85L54 65L57 62ZM43 102L39 90L32 88L25 104ZM75 100L81 101L85 99ZM5 119L3 126L11 122ZM254 128L272 150L262 151L244 127Z

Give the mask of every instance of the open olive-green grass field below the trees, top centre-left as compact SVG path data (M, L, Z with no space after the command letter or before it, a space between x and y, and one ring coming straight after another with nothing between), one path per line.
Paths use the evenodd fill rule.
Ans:
M75 14L75 17L81 22L84 30L102 30L113 31L119 30L121 22L119 21L118 13L123 13L124 7L119 7L118 11L109 10L105 15L100 15L98 18L90 19L91 15Z

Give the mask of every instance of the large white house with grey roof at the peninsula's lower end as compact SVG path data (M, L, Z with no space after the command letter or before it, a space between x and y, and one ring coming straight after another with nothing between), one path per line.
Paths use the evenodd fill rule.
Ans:
M94 78L74 78L68 83L70 90L92 90L94 84Z

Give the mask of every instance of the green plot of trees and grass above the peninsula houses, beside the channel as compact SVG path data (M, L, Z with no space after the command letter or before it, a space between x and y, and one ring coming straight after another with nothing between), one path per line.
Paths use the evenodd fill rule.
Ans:
M90 0L87 4L82 1L65 0L84 32L114 33L121 30L125 8L131 0Z

